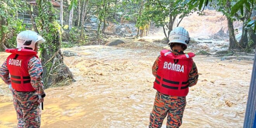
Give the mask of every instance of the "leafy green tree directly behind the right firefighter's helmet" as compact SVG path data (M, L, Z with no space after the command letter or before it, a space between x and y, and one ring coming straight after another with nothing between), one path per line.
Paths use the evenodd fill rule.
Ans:
M145 7L147 11L143 15L150 17L157 27L163 27L166 38L173 30L176 20L180 19L179 25L184 17L197 10L192 9L187 0L149 0ZM166 34L166 29L168 34Z

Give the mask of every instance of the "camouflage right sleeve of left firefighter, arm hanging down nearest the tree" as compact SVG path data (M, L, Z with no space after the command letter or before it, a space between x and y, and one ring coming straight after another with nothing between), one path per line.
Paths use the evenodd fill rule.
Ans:
M28 72L31 78L31 85L35 88L38 95L45 95L43 91L43 80L41 74L43 73L43 67L40 60L36 57L32 57L28 63Z

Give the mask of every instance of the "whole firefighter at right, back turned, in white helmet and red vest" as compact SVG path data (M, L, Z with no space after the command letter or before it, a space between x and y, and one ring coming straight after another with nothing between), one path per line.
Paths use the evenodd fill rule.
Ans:
M152 66L152 74L156 77L154 89L157 92L149 128L161 128L166 116L167 128L179 128L182 125L189 87L198 80L197 67L192 59L195 54L183 52L189 41L186 29L173 29L168 43L172 51L162 50Z

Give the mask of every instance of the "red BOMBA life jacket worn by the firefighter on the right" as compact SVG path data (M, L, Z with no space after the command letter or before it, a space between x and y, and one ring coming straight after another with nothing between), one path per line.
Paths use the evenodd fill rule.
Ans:
M175 55L170 50L162 50L154 88L166 95L187 96L194 56L194 53Z

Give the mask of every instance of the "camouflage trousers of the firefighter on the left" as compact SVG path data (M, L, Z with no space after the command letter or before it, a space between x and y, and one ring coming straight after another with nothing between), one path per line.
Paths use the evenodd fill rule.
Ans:
M41 109L36 92L17 92L12 89L14 108L17 113L18 128L40 128Z

